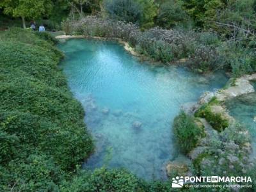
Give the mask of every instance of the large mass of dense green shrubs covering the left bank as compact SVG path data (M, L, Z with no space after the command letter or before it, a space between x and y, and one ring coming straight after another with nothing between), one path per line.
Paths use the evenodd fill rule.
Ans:
M0 35L0 191L54 191L93 150L47 34Z

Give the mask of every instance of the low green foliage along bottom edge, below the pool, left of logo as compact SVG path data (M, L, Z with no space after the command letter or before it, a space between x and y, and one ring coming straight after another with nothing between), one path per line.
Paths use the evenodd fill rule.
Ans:
M79 172L73 180L63 182L61 191L166 192L172 191L172 182L169 179L146 182L126 170L102 167L93 173Z

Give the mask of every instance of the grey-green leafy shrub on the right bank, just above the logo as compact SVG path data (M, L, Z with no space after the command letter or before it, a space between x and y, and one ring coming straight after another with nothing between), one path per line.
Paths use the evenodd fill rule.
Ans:
M205 140L204 147L202 154L193 161L196 174L250 176L253 181L252 191L255 191L256 164L250 158L250 135L244 127L235 124L220 133L213 132L211 137Z

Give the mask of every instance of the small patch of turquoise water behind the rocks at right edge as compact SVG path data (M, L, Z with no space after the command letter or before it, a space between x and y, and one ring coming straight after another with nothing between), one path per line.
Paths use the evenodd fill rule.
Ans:
M254 84L256 88L256 83ZM228 100L225 106L230 115L244 125L252 137L252 157L256 157L256 93L250 93Z

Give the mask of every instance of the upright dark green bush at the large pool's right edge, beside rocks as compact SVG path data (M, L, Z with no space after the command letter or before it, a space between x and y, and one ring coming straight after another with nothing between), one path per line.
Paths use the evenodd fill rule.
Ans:
M188 154L196 147L200 138L205 136L204 127L195 124L195 118L186 115L183 111L175 117L173 131L181 152Z

